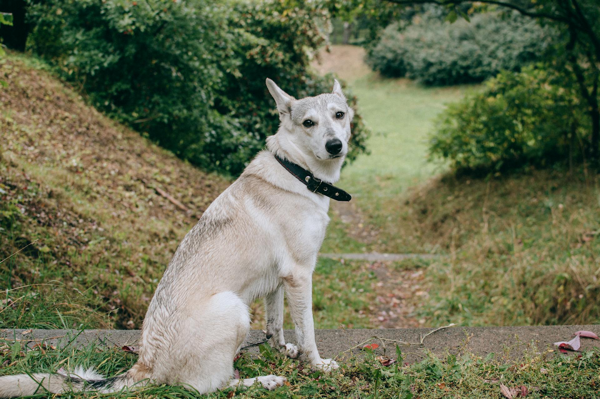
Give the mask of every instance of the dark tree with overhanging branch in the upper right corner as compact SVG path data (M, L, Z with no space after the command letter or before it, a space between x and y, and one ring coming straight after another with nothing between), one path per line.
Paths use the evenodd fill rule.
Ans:
M451 8L449 20L457 13L468 16L457 7L463 4L487 4L516 10L540 23L551 23L563 33L565 40L558 47L556 67L566 65L587 102L587 114L592 122L589 156L600 164L600 7L597 0L387 0L398 5L437 4ZM562 62L565 61L565 62Z

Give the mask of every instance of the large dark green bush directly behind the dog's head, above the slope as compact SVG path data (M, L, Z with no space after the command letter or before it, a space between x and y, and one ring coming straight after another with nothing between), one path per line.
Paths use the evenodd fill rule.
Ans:
M331 91L331 78L307 71L308 52L324 40L326 14L314 7L49 0L29 7L28 41L101 111L198 166L236 175L277 130L266 77L298 97ZM365 134L358 118L350 160Z

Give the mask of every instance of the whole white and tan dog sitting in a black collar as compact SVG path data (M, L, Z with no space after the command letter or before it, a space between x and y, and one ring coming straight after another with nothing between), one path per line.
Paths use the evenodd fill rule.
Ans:
M298 100L271 79L266 85L280 127L179 244L143 321L137 363L110 378L92 369L0 377L1 398L148 384L187 385L200 393L255 382L275 389L284 377L233 379L233 359L250 330L248 305L261 297L271 347L319 370L338 367L315 343L312 275L330 197L349 199L332 184L348 152L354 112L337 80L331 93ZM284 292L297 345L283 337Z

